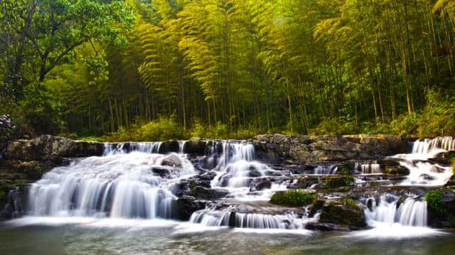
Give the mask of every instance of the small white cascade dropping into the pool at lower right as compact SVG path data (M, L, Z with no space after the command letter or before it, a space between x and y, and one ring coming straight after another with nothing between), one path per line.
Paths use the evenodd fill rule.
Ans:
M401 224L402 226L426 227L427 202L412 197L404 201L393 195L382 195L380 201L368 199L365 209L367 222L385 222L387 224Z

